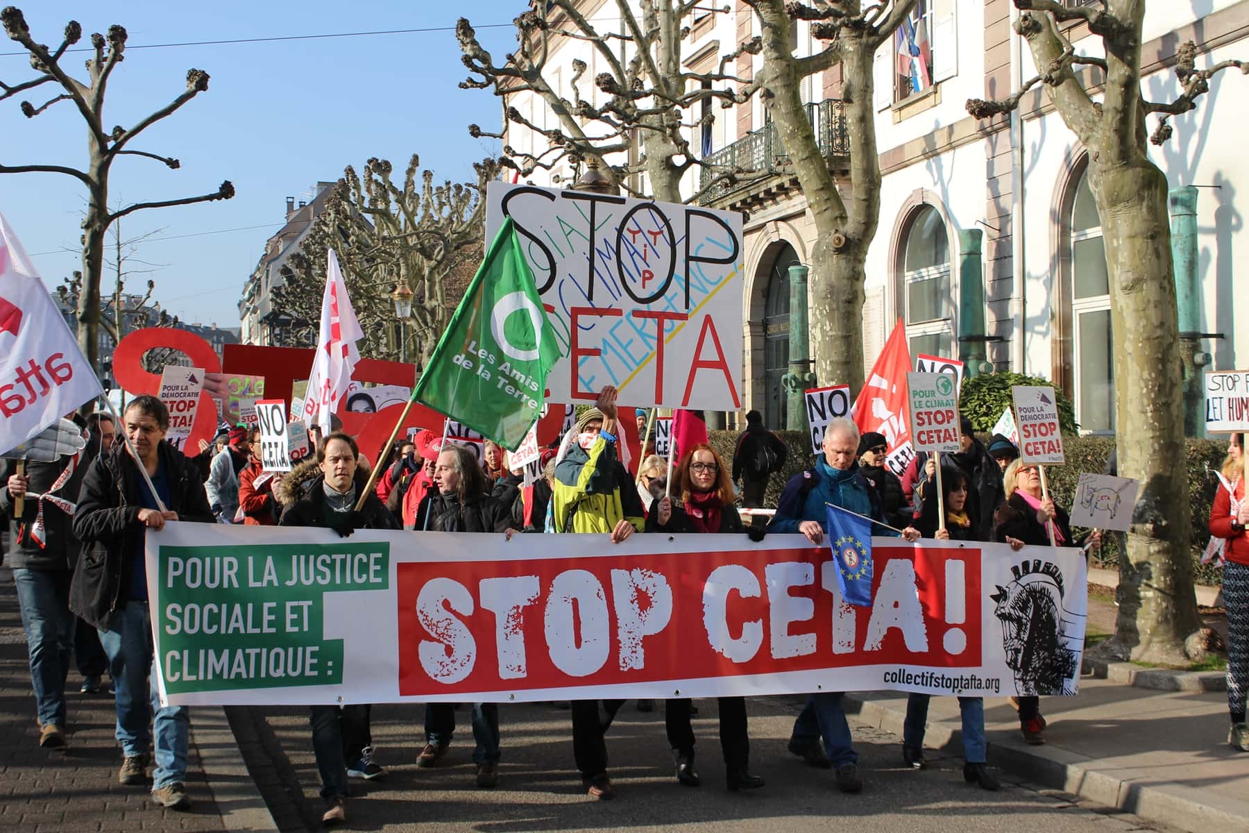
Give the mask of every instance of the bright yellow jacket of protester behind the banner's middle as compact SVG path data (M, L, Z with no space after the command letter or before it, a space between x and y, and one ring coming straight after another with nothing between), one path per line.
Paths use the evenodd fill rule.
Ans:
M616 460L615 443L602 436L588 450L578 445L568 450L555 467L551 500L557 532L610 533L622 520L638 532L646 528L633 478Z

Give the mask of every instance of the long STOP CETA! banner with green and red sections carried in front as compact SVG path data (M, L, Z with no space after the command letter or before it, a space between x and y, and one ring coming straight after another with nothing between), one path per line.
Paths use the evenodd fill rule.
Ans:
M417 540L420 538L420 540ZM1078 550L873 538L872 603L802 536L467 536L169 523L146 537L162 702L1073 694ZM360 611L367 609L368 616Z

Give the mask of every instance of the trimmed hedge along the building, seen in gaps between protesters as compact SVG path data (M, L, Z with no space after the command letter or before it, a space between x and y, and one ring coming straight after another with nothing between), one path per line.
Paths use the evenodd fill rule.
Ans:
M736 431L712 431L711 445L719 452L726 462L733 460L733 448L737 445ZM811 453L809 437L799 431L778 431L789 455L786 458L784 471L774 475L768 483L764 496L764 505L776 507L781 501L781 491L791 476L801 472L812 465L814 456ZM980 440L988 440L984 435ZM1188 498L1193 507L1193 566L1197 572L1197 581L1202 584L1219 584L1223 581L1220 569L1210 568L1200 563L1202 552L1210 540L1209 521L1210 506L1214 501L1214 490L1219 481L1215 472L1223 465L1223 458L1228 453L1228 443L1222 440L1193 440L1185 441L1185 468L1188 470ZM1075 486L1082 472L1102 473L1105 461L1114 450L1114 437L1063 437L1063 448L1067 452L1065 466L1048 466L1045 476L1049 481L1050 492L1054 501L1063 507L1070 507L1075 495ZM1119 550L1117 536L1107 536L1102 555L1098 558L1098 567L1115 568L1119 563Z

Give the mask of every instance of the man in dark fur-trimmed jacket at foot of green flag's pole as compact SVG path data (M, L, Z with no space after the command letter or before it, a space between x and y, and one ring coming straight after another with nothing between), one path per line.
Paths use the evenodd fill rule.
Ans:
M316 473L306 465L296 467L284 493L300 496L282 512L279 522L290 527L323 527L342 537L356 530L396 530L393 516L377 495L370 492L365 506L356 501L368 485L367 471L358 465L360 447L351 436L327 433L316 448ZM311 476L311 481L307 478ZM290 490L290 491L287 491ZM326 811L321 821L341 824L347 821L347 776L380 778L386 774L372 762L367 704L313 706L312 751L321 774L321 797ZM361 746L363 744L363 746ZM357 757L358 753L358 757ZM348 757L350 756L350 757ZM347 762L352 761L348 771Z

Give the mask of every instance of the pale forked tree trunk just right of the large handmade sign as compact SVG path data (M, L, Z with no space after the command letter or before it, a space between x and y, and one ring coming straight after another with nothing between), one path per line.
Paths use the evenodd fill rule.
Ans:
M876 145L873 62L916 0L746 0L759 21L763 67L761 95L772 109L781 142L816 226L811 254L811 336L821 385L863 385L863 278L867 250L881 219L881 165ZM796 57L791 19L811 20L822 51ZM842 65L842 105L849 142L849 181L843 191L828 169L802 105L802 79Z

